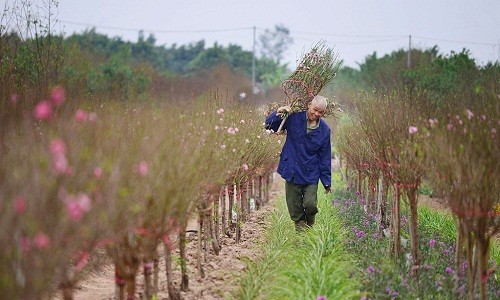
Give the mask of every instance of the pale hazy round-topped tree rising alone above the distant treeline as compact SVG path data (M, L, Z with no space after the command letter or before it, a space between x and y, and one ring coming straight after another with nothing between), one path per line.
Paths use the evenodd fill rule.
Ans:
M262 56L275 60L278 64L283 60L288 46L293 43L290 30L282 24L275 25L274 30L266 29L259 40Z

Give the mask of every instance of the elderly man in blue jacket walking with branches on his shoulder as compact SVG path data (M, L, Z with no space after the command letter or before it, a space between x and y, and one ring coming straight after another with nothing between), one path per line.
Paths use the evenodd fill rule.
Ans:
M326 107L327 99L318 95L309 103L307 111L290 114L291 108L283 106L266 119L266 129L277 131L283 114L288 115L282 127L286 130L286 141L281 151L278 173L286 181L288 212L297 230L314 224L318 212L320 180L325 193L330 193L330 127L321 119Z

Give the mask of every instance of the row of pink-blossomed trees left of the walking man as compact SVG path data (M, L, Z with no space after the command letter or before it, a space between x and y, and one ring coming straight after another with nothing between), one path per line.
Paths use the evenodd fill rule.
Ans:
M89 104L71 113L56 87L19 127L5 130L4 295L33 299L61 289L69 299L111 259L119 297L134 297L141 271L149 298L158 246L171 268L178 237L182 261L190 219L200 226L200 272L203 243L217 252L226 231L238 242L251 204L266 201L279 138L263 129L257 111L209 98L176 107Z

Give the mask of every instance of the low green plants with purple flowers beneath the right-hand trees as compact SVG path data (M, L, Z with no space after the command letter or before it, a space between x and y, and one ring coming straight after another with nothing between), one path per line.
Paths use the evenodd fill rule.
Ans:
M348 230L345 239L346 250L354 255L363 291L368 299L453 299L453 280L458 276L460 297L466 298L466 270L463 265L455 270L456 221L449 213L432 211L420 207L419 251L420 283L411 277L410 249L403 238L405 255L391 260L387 255L389 237L377 228L375 217L363 210L364 199L346 190L335 191L334 208L338 210L341 224ZM404 210L401 228L402 236L408 236L408 215ZM498 244L494 246L497 249ZM498 252L498 250L495 250ZM490 266L494 262L489 263ZM498 280L488 280L488 294L492 297L500 291Z

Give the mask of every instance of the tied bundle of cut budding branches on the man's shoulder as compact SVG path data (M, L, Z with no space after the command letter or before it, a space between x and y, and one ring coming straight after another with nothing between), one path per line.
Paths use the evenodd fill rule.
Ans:
M290 106L290 113L306 111L312 99L337 75L341 64L338 54L333 49L323 41L318 42L303 56L297 69L281 83L281 88L286 95L285 102L269 103L269 111L275 111L285 105ZM340 111L336 103L329 101L325 115L333 116ZM283 121L278 133L288 115L282 115L282 117Z

